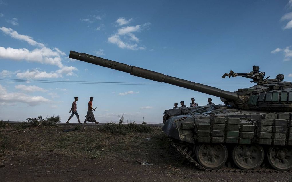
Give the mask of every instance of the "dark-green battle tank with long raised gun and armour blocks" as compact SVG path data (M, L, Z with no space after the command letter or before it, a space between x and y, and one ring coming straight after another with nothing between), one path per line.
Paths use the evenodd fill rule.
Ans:
M224 105L164 111L162 130L171 145L195 167L206 171L287 171L292 168L292 84L284 75L265 77L259 66L249 73L225 73L256 83L225 91L162 73L70 51L69 58L112 68L220 97Z

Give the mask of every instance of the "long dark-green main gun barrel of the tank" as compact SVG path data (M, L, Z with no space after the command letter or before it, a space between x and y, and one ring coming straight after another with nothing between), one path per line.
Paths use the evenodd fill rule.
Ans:
M92 56L85 53L70 51L69 58L85 61L88 63L96 64L96 65L107 67L107 68L112 68L119 71L123 71L126 73L130 73L131 75L134 75L134 76L154 80L157 82L164 82L164 83L180 86L186 89L191 89L194 91L210 94L216 97L225 98L227 100L236 101L239 97L238 94L234 92L225 91L225 90L221 90L212 86L199 84L196 82L191 82L184 79L164 75L162 73L146 70L146 69L139 68L136 66L129 66L127 64L103 59L103 58Z

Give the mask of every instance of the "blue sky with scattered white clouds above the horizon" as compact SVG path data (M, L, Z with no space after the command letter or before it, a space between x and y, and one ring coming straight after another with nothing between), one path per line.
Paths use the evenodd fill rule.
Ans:
M53 114L67 121L74 96L81 121L93 96L98 121L161 123L165 109L194 97L220 98L69 59L84 52L166 75L236 91L252 71L292 81L292 0L5 1L0 0L0 119ZM7 80L7 79L22 79ZM26 81L27 80L27 81ZM66 81L67 83L29 80ZM77 122L74 116L72 122Z

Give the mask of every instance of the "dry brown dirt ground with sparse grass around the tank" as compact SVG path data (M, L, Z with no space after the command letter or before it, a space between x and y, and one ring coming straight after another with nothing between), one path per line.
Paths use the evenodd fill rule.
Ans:
M102 126L0 128L0 181L291 181L291 173L204 172L190 165L160 128L112 134ZM146 138L151 140L146 140ZM153 165L133 165L148 159Z

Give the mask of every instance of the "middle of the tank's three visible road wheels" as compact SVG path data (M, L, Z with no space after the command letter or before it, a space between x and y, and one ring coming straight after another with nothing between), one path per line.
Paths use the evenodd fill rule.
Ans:
M243 170L259 167L263 163L264 157L264 149L259 145L237 145L232 152L235 165Z

